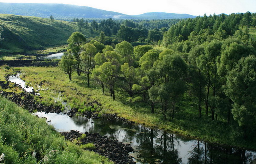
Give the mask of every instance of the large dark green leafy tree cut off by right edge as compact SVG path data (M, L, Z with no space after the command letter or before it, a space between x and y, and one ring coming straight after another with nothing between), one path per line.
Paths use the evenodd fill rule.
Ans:
M234 119L244 130L244 137L256 130L256 57L242 57L229 72L225 93L234 102ZM252 136L253 137L253 136Z

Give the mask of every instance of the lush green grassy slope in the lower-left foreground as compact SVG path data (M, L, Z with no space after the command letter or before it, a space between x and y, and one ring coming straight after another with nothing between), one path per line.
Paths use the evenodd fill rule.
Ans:
M1 162L12 164L110 164L106 158L64 140L45 120L0 97ZM36 158L33 157L36 153Z

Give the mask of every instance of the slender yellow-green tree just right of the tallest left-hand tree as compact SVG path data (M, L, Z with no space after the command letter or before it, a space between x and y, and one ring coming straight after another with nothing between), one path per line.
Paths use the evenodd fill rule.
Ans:
M83 60L83 70L85 72L85 76L87 77L87 86L90 87L90 74L94 67L94 56L96 54L96 47L90 43L86 43L82 46L82 60Z

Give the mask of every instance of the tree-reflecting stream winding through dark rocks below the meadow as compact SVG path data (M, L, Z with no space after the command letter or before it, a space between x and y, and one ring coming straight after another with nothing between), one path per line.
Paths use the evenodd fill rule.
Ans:
M16 83L21 79L19 76L13 76L9 77L9 80ZM134 148L134 152L130 155L134 156L134 161L138 164L250 164L256 162L255 151L207 143L106 117L88 119L84 116L73 116L70 118L63 112L59 114L36 112L35 115L46 117L46 121L59 132L70 130L98 132L101 136L106 135L119 142L129 143Z

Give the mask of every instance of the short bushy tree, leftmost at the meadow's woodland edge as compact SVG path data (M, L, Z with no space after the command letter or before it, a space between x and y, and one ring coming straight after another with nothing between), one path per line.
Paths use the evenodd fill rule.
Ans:
M60 69L68 75L69 80L72 80L72 73L75 71L75 68L74 68L75 61L71 54L72 54L72 51L68 50L67 53L64 53L64 55L61 58L61 61L59 62Z

